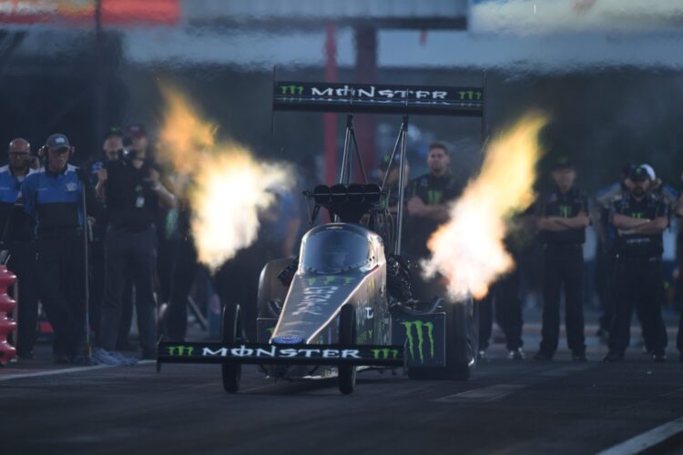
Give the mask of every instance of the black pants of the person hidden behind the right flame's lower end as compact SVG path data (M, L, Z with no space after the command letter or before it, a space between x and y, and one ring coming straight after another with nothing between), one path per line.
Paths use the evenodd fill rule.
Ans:
M500 278L488 296L479 303L479 349L489 347L495 321L505 333L505 346L509 350L522 347L522 299L519 297L519 269Z

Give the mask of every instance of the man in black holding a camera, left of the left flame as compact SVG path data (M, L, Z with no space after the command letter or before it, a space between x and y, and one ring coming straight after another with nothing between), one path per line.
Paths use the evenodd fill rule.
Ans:
M176 199L159 182L158 167L144 149L131 150L98 172L97 195L107 205L105 297L98 346L116 349L127 270L136 287L138 331L143 359L156 358L153 277L156 256L154 221L159 208Z

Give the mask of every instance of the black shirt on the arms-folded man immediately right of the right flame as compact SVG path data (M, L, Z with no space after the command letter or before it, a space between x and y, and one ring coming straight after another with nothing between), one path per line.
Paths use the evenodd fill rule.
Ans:
M541 198L539 215L542 217L573 218L581 212L588 213L588 198L576 188L565 194L556 190ZM586 229L544 230L541 236L546 245L581 245L586 241Z

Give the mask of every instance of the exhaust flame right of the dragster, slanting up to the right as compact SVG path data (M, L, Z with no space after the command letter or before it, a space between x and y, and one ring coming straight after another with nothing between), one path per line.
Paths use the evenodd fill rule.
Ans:
M429 239L424 273L440 273L452 298L484 298L494 280L515 268L505 251L507 221L534 198L537 136L547 119L529 114L486 147L481 173L450 207L450 221Z

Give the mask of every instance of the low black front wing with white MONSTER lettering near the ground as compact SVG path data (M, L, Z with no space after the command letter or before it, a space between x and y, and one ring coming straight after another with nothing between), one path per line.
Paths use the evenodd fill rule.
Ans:
M160 342L157 362L401 367L404 356L403 346Z

